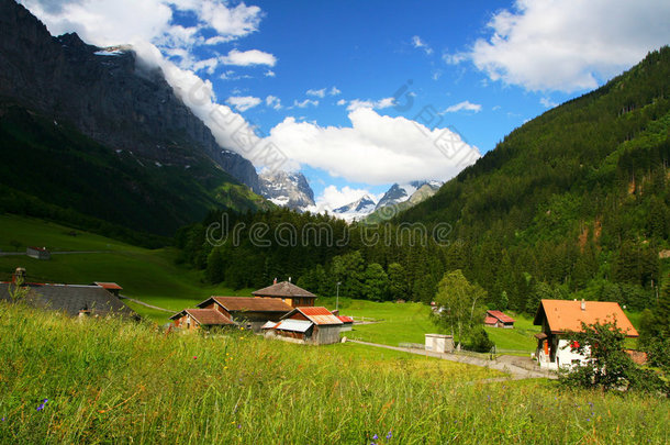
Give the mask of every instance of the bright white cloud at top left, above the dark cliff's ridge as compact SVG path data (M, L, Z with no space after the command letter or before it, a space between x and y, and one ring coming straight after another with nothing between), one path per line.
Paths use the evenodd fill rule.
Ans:
M219 0L23 0L22 3L54 35L77 32L85 42L98 46L152 43L183 69L213 74L223 62L270 66L277 62L275 56L258 49L219 59L200 59L196 55L193 49L199 46L234 41L258 30L263 11L244 2L230 8ZM193 15L194 24L175 24L174 10Z

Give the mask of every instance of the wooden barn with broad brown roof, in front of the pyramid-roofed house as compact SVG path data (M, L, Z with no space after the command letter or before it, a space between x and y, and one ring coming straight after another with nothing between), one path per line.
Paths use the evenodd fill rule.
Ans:
M197 307L219 311L228 320L254 332L260 332L268 321L278 322L292 309L279 299L261 297L210 297Z

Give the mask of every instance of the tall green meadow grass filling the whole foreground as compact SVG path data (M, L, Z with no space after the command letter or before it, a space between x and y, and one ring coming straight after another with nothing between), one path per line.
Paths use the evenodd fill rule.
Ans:
M0 443L669 440L665 399L491 383L485 369L375 351L166 335L0 303Z

